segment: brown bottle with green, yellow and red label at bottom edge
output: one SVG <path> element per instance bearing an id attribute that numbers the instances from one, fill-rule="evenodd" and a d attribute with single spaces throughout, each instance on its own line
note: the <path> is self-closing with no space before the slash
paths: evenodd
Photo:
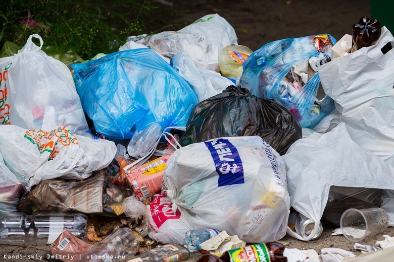
<path id="1" fill-rule="evenodd" d="M 204 254 L 197 262 L 287 262 L 283 251 L 282 244 L 268 242 L 231 249 L 220 257 Z"/>

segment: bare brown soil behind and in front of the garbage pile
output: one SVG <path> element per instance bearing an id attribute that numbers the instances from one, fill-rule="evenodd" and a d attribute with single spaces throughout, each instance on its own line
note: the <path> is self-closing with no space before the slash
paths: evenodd
<path id="1" fill-rule="evenodd" d="M 302 37 L 312 34 L 330 33 L 337 40 L 344 34 L 352 33 L 352 26 L 362 16 L 371 18 L 368 0 L 157 0 L 163 10 L 169 6 L 178 10 L 190 10 L 182 17 L 167 18 L 165 23 L 190 24 L 207 14 L 219 14 L 235 29 L 238 44 L 246 45 L 257 50 L 271 41 L 288 37 Z M 170 29 L 169 29 L 170 30 Z M 331 236 L 333 228 L 325 228 L 318 240 L 304 242 L 285 236 L 280 241 L 288 248 L 315 249 L 319 254 L 322 248 L 337 247 L 355 254 L 354 243 L 343 236 Z M 383 234 L 394 236 L 394 228 L 389 227 L 385 232 L 371 236 L 362 244 L 374 245 L 377 240 L 383 240 Z M 17 245 L 1 245 L 0 261 L 39 261 L 44 260 L 49 251 L 47 245 L 34 243 Z M 32 259 L 8 259 L 10 255 L 31 255 Z M 42 257 L 40 257 L 42 256 Z M 194 262 L 200 256 L 194 253 L 189 258 Z"/>

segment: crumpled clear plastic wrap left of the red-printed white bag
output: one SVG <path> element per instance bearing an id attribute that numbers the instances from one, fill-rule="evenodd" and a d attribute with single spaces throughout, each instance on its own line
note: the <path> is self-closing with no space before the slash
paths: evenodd
<path id="1" fill-rule="evenodd" d="M 134 219 L 135 221 L 140 221 L 138 226 L 135 227 L 135 231 L 140 233 L 142 236 L 146 236 L 148 233 L 148 221 L 150 217 L 149 209 L 140 202 L 134 195 L 126 198 L 123 203 L 124 214 Z"/>

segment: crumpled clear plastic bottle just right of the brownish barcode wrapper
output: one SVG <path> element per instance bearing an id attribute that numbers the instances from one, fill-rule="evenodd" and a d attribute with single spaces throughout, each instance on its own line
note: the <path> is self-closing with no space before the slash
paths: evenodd
<path id="1" fill-rule="evenodd" d="M 81 254 L 82 262 L 128 261 L 138 251 L 139 240 L 129 228 L 120 228 L 87 252 Z"/>

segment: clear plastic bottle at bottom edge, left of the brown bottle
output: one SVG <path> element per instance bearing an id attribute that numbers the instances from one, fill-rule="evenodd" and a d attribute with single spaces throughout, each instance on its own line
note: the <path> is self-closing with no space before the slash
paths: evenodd
<path id="1" fill-rule="evenodd" d="M 190 251 L 179 244 L 167 244 L 144 251 L 128 262 L 176 262 L 190 256 Z"/>

